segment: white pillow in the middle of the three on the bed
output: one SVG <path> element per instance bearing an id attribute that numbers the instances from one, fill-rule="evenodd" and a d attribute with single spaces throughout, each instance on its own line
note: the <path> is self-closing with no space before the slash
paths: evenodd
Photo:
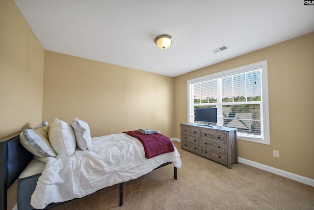
<path id="1" fill-rule="evenodd" d="M 76 149 L 76 141 L 70 124 L 54 119 L 48 130 L 49 142 L 57 154 L 70 156 Z"/>

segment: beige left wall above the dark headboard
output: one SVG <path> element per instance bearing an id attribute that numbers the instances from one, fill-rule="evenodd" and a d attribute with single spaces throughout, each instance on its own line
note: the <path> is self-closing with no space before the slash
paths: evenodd
<path id="1" fill-rule="evenodd" d="M 13 0 L 0 0 L 0 140 L 42 120 L 44 50 Z M 17 181 L 8 189 L 16 204 Z"/>

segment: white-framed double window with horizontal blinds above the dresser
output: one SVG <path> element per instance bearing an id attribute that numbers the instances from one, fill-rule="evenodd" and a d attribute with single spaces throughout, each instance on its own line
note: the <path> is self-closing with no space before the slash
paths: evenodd
<path id="1" fill-rule="evenodd" d="M 217 108 L 217 126 L 238 129 L 238 138 L 269 145 L 267 61 L 187 81 L 188 122 L 195 108 Z"/>

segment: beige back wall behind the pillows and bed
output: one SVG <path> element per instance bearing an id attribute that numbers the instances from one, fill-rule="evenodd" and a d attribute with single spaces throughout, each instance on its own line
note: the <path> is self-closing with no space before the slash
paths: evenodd
<path id="1" fill-rule="evenodd" d="M 174 136 L 174 78 L 45 51 L 43 119 L 86 121 L 91 135 L 151 128 Z"/>

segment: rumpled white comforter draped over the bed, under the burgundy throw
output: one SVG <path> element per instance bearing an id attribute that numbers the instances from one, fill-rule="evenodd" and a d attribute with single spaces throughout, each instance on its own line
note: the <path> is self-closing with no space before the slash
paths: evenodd
<path id="1" fill-rule="evenodd" d="M 35 209 L 136 179 L 168 161 L 181 168 L 176 148 L 147 159 L 142 143 L 125 133 L 92 138 L 92 151 L 76 150 L 70 157 L 57 155 L 39 160 L 46 162 L 46 167 L 31 196 Z"/>

